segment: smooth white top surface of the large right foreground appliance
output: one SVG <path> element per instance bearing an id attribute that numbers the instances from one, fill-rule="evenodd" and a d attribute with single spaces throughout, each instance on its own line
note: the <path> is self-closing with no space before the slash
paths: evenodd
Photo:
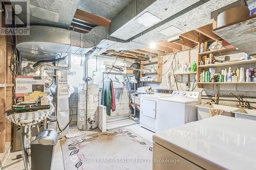
<path id="1" fill-rule="evenodd" d="M 165 148 L 177 145 L 223 168 L 256 169 L 255 120 L 215 116 L 156 133 L 154 138 L 166 141 Z"/>

